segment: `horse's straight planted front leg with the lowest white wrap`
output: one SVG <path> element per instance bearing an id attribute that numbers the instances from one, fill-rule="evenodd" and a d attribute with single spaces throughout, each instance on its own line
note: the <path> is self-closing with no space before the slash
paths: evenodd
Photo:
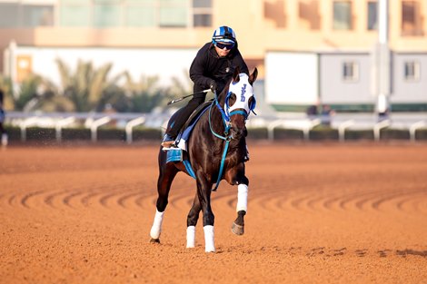
<path id="1" fill-rule="evenodd" d="M 197 175 L 197 195 L 204 213 L 204 251 L 214 252 L 214 212 L 211 208 L 212 184 Z"/>

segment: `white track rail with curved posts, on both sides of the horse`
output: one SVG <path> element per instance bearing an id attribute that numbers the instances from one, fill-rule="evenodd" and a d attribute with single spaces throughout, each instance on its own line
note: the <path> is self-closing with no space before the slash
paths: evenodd
<path id="1" fill-rule="evenodd" d="M 144 124 L 147 127 L 162 129 L 171 113 L 6 113 L 5 123 L 17 126 L 21 130 L 21 140 L 27 140 L 27 130 L 30 126 L 54 128 L 57 142 L 63 140 L 63 129 L 68 125 L 82 125 L 90 129 L 92 141 L 97 141 L 99 127 L 113 121 L 118 128 L 124 128 L 126 142 L 132 143 L 134 127 Z M 416 133 L 427 125 L 427 113 L 393 113 L 390 120 L 377 122 L 374 113 L 336 113 L 332 117 L 331 127 L 338 131 L 340 142 L 346 140 L 345 134 L 351 127 L 354 130 L 372 130 L 375 141 L 381 140 L 381 132 L 385 127 L 399 127 L 410 132 L 409 139 L 416 141 Z M 246 124 L 251 127 L 265 127 L 267 139 L 275 139 L 277 128 L 300 130 L 303 139 L 310 140 L 310 132 L 314 126 L 321 123 L 319 118 L 310 120 L 305 113 L 264 113 L 251 117 Z"/>

